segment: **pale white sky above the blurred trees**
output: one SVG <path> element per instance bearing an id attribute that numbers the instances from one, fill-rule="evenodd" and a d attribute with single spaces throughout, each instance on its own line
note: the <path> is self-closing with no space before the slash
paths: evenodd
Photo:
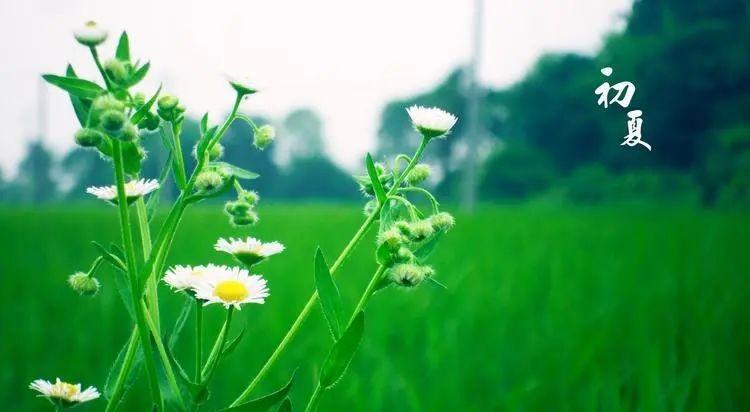
<path id="1" fill-rule="evenodd" d="M 15 170 L 38 134 L 39 75 L 71 62 L 95 76 L 88 51 L 70 31 L 85 20 L 119 32 L 131 53 L 150 60 L 139 90 L 163 81 L 188 112 L 229 109 L 225 74 L 262 89 L 243 105 L 281 117 L 299 106 L 325 122 L 327 150 L 352 167 L 374 146 L 380 111 L 391 99 L 425 91 L 469 59 L 473 0 L 2 0 L 0 4 L 0 167 Z M 485 0 L 481 80 L 519 80 L 548 51 L 594 52 L 618 30 L 631 0 Z M 49 135 L 57 153 L 73 145 L 76 121 L 66 95 L 49 89 Z M 283 136 L 279 136 L 283 139 Z"/>

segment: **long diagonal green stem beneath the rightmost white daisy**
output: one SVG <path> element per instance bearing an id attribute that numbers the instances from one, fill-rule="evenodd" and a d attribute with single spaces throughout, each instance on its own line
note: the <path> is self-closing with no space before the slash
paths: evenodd
<path id="1" fill-rule="evenodd" d="M 391 190 L 388 191 L 387 196 L 393 195 L 396 190 L 398 190 L 398 187 L 401 185 L 401 183 L 406 178 L 406 175 L 409 173 L 409 171 L 417 164 L 419 161 L 419 158 L 422 157 L 422 153 L 424 153 L 425 148 L 427 147 L 427 143 L 429 143 L 428 139 L 422 139 L 422 142 L 419 144 L 419 147 L 417 148 L 416 153 L 414 153 L 414 156 L 411 158 L 411 161 L 409 162 L 409 165 L 406 166 L 406 169 L 396 178 L 393 187 Z M 335 276 L 336 271 L 339 267 L 344 263 L 346 258 L 349 256 L 349 254 L 354 250 L 354 247 L 359 243 L 359 241 L 364 237 L 365 233 L 370 229 L 372 224 L 380 217 L 380 212 L 383 210 L 384 204 L 378 204 L 378 207 L 375 209 L 375 211 L 367 217 L 367 219 L 362 223 L 362 226 L 357 230 L 357 233 L 354 234 L 354 237 L 349 241 L 349 243 L 346 245 L 343 251 L 341 251 L 341 254 L 339 254 L 336 261 L 333 263 L 333 265 L 330 268 L 331 276 Z M 250 381 L 250 384 L 245 388 L 244 391 L 237 397 L 237 399 L 232 402 L 230 407 L 234 407 L 242 403 L 244 400 L 246 400 L 250 393 L 260 384 L 261 380 L 266 376 L 268 371 L 271 369 L 271 366 L 273 366 L 274 363 L 276 363 L 276 360 L 279 358 L 282 352 L 286 349 L 286 347 L 289 345 L 289 342 L 294 338 L 294 336 L 299 331 L 300 327 L 304 323 L 305 319 L 307 319 L 307 316 L 312 311 L 312 308 L 315 306 L 315 302 L 318 300 L 318 293 L 314 292 L 310 299 L 308 299 L 305 306 L 302 308 L 302 311 L 297 315 L 297 319 L 294 320 L 294 323 L 292 323 L 292 326 L 289 328 L 289 330 L 286 332 L 286 335 L 284 335 L 284 338 L 282 338 L 279 345 L 274 349 L 273 353 L 271 353 L 271 356 L 268 357 L 268 360 L 266 360 L 266 363 L 263 364 L 260 371 L 258 371 L 258 374 L 255 375 L 253 380 Z"/>

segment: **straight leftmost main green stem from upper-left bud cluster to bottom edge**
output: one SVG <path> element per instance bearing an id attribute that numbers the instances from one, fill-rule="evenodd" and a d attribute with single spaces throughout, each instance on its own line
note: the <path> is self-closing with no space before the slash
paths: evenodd
<path id="1" fill-rule="evenodd" d="M 136 327 L 138 334 L 141 339 L 141 346 L 143 347 L 143 355 L 146 363 L 146 372 L 148 375 L 149 388 L 151 390 L 151 397 L 160 411 L 164 410 L 164 403 L 162 402 L 161 393 L 159 392 L 159 382 L 156 376 L 156 365 L 154 364 L 153 352 L 151 348 L 151 341 L 148 333 L 148 326 L 144 318 L 141 307 L 141 298 L 136 293 L 138 291 L 138 268 L 135 259 L 135 248 L 133 246 L 133 236 L 130 229 L 130 216 L 128 214 L 128 202 L 125 196 L 125 170 L 122 161 L 122 148 L 120 147 L 120 141 L 117 139 L 112 140 L 114 167 L 115 167 L 115 181 L 117 183 L 117 209 L 120 212 L 120 229 L 122 231 L 122 246 L 125 249 L 125 257 L 128 267 L 128 274 L 130 275 L 130 289 L 133 298 L 133 309 L 135 312 Z"/>

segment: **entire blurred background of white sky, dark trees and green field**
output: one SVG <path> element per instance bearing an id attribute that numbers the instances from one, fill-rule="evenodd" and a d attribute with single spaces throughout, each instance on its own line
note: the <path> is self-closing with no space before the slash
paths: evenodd
<path id="1" fill-rule="evenodd" d="M 117 239 L 115 210 L 85 194 L 112 172 L 74 147 L 67 97 L 39 80 L 67 62 L 94 78 L 69 33 L 95 18 L 112 37 L 127 29 L 133 53 L 152 62 L 144 92 L 162 82 L 187 105 L 186 159 L 202 113 L 229 109 L 225 73 L 257 79 L 263 92 L 243 111 L 278 130 L 263 152 L 243 122 L 223 141 L 227 161 L 261 174 L 261 222 L 235 229 L 221 202 L 202 204 L 168 259 L 228 264 L 211 247 L 227 235 L 288 248 L 259 267 L 272 297 L 241 312 L 247 336 L 210 407 L 239 393 L 301 309 L 316 246 L 333 257 L 359 226 L 351 175 L 364 152 L 413 150 L 404 108 L 422 104 L 461 119 L 426 160 L 458 221 L 433 259 L 448 290 L 378 294 L 322 410 L 750 410 L 747 1 L 0 7 L 0 409 L 47 410 L 26 389 L 38 377 L 103 385 L 130 330 L 111 273 L 93 299 L 65 284 L 96 256 L 91 240 Z M 605 80 L 635 84 L 630 108 L 643 111 L 652 151 L 620 145 L 627 110 L 597 105 Z M 152 137 L 147 177 L 166 158 Z M 349 308 L 374 267 L 368 238 L 338 278 Z M 180 297 L 161 292 L 162 321 L 173 322 Z M 208 311 L 212 327 L 221 313 Z M 299 367 L 301 408 L 329 345 L 316 311 L 258 394 Z M 186 336 L 177 347 L 186 365 L 190 346 Z M 145 410 L 142 382 L 130 395 L 123 410 Z"/>

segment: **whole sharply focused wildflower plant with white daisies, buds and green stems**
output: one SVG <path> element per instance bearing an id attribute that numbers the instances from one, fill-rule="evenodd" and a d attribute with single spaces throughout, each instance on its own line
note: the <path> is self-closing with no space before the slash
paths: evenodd
<path id="1" fill-rule="evenodd" d="M 89 49 L 101 76 L 100 83 L 79 78 L 70 65 L 64 75 L 43 75 L 47 82 L 70 97 L 81 126 L 74 135 L 75 142 L 98 152 L 111 163 L 113 184 L 92 187 L 87 192 L 116 212 L 121 231 L 120 242 L 108 247 L 93 242 L 97 258 L 87 272 L 70 275 L 68 284 L 82 296 L 95 296 L 101 287 L 109 286 L 110 279 L 101 281 L 96 277 L 103 266 L 109 265 L 115 270 L 112 285 L 118 290 L 133 322 L 132 333 L 102 386 L 105 411 L 114 411 L 120 406 L 141 366 L 146 371 L 151 395 L 151 404 L 144 405 L 142 410 L 196 411 L 204 407 L 210 397 L 210 383 L 221 359 L 242 344 L 242 332 L 230 338 L 234 312 L 243 308 L 259 310 L 257 305 L 271 298 L 269 282 L 254 274 L 255 268 L 282 253 L 284 245 L 250 236 L 221 238 L 214 249 L 217 254 L 231 255 L 235 266 L 206 263 L 167 268 L 166 260 L 185 211 L 203 200 L 234 190 L 236 198 L 224 205 L 229 223 L 249 227 L 258 222 L 255 209 L 260 197 L 257 192 L 246 189 L 242 182 L 259 176 L 221 161 L 224 154 L 221 140 L 236 120 L 250 124 L 254 134 L 252 145 L 257 150 L 271 144 L 276 132 L 272 126 L 258 126 L 239 113 L 240 104 L 257 90 L 250 82 L 232 79 L 229 81 L 235 91 L 232 110 L 220 124 L 212 124 L 208 114 L 201 118 L 200 138 L 192 148 L 196 165 L 188 170 L 180 139 L 185 106 L 176 96 L 162 93 L 161 86 L 148 95 L 134 90 L 148 74 L 150 63 L 141 63 L 131 56 L 127 33 L 119 37 L 114 56 L 102 62 L 98 47 L 107 36 L 107 30 L 94 22 L 74 32 L 75 39 Z M 331 332 L 332 343 L 307 404 L 308 411 L 315 410 L 323 393 L 344 375 L 362 339 L 367 303 L 378 291 L 391 285 L 416 288 L 423 283 L 443 287 L 435 279 L 435 270 L 428 266 L 427 259 L 453 226 L 454 219 L 441 212 L 435 197 L 421 186 L 428 180 L 430 168 L 421 164 L 420 159 L 431 142 L 449 134 L 457 119 L 443 110 L 419 106 L 408 108 L 407 114 L 421 136 L 416 152 L 411 156 L 400 154 L 390 165 L 375 163 L 369 154 L 366 156 L 366 173 L 355 177 L 367 198 L 364 222 L 331 265 L 320 249 L 316 251 L 312 265 L 316 290 L 261 369 L 221 411 L 260 411 L 277 405 L 281 405 L 279 410 L 291 410 L 288 395 L 293 386 L 293 373 L 289 382 L 277 391 L 255 399 L 250 397 L 318 304 Z M 159 136 L 169 155 L 159 176 L 141 176 L 146 157 L 142 141 L 156 139 L 154 135 Z M 174 184 L 179 195 L 169 207 L 166 219 L 156 227 L 152 217 L 159 204 L 159 191 L 167 184 Z M 413 203 L 416 196 L 427 199 L 428 210 Z M 373 228 L 378 232 L 373 247 L 377 269 L 356 307 L 347 312 L 334 276 Z M 162 282 L 184 299 L 182 311 L 169 325 L 159 307 L 158 286 Z M 224 324 L 213 334 L 210 350 L 204 347 L 204 339 L 210 335 L 203 328 L 205 306 L 225 311 Z M 194 358 L 190 361 L 193 369 L 189 373 L 182 367 L 185 360 L 175 357 L 173 347 L 191 317 L 195 347 Z M 100 397 L 95 387 L 81 391 L 80 385 L 59 379 L 54 384 L 39 379 L 32 382 L 30 388 L 49 399 L 57 409 Z"/>

